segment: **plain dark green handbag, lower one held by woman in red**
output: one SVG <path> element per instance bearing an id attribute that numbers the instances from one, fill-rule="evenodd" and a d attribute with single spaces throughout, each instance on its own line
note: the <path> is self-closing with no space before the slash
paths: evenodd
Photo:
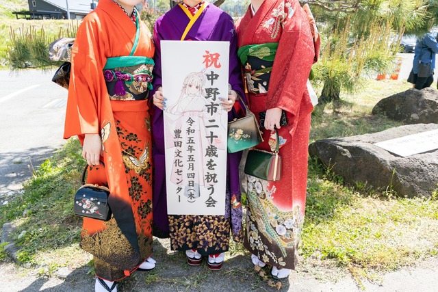
<path id="1" fill-rule="evenodd" d="M 275 152 L 251 149 L 246 157 L 246 174 L 265 181 L 279 181 L 281 178 L 281 157 L 279 156 L 279 132 L 276 133 Z"/>

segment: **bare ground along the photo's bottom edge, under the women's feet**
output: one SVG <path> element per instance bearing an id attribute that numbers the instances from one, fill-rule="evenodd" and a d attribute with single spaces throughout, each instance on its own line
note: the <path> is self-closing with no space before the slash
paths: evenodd
<path id="1" fill-rule="evenodd" d="M 242 252 L 228 255 L 220 271 L 210 271 L 205 259 L 201 266 L 191 267 L 182 253 L 169 250 L 168 240 L 154 239 L 153 257 L 157 260 L 153 271 L 136 271 L 118 284 L 118 291 L 277 291 L 254 271 L 249 254 Z M 0 291 L 94 291 L 94 278 L 89 271 L 90 266 L 86 265 L 64 271 L 64 276 L 55 272 L 58 276 L 46 278 L 38 276 L 38 269 L 5 261 L 0 263 Z M 270 273 L 268 268 L 265 271 Z M 374 278 L 373 282 L 361 279 L 358 284 L 346 269 L 327 267 L 315 259 L 299 265 L 281 282 L 279 291 L 437 291 L 438 258 L 428 258 Z"/>

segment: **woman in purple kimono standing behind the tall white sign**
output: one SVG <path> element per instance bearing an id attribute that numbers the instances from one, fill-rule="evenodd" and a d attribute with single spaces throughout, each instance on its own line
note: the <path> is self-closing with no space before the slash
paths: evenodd
<path id="1" fill-rule="evenodd" d="M 230 42 L 229 96 L 222 101 L 229 120 L 239 118 L 235 101 L 244 108 L 246 99 L 242 90 L 240 63 L 237 59 L 237 39 L 233 19 L 212 4 L 198 0 L 183 0 L 155 23 L 155 77 L 153 103 L 153 159 L 164 161 L 164 127 L 162 109 L 166 110 L 162 95 L 161 40 L 209 40 Z M 176 52 L 181 54 L 189 52 Z M 242 101 L 244 99 L 244 101 Z M 239 103 L 236 103 L 238 107 Z M 153 210 L 154 235 L 170 237 L 172 250 L 185 251 L 189 265 L 200 265 L 202 256 L 208 256 L 210 269 L 220 269 L 224 252 L 229 249 L 230 231 L 233 240 L 241 241 L 242 204 L 240 204 L 239 163 L 242 153 L 227 155 L 227 194 L 224 216 L 168 215 L 166 206 L 166 172 L 164 163 L 155 163 Z M 231 230 L 230 230 L 231 229 Z"/>

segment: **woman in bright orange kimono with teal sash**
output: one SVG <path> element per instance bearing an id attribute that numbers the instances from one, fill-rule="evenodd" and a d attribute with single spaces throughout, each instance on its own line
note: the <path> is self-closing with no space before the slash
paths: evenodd
<path id="1" fill-rule="evenodd" d="M 94 256 L 95 291 L 116 291 L 115 281 L 155 267 L 147 100 L 154 47 L 134 9 L 139 2 L 99 1 L 72 48 L 64 138 L 79 137 L 87 183 L 110 189 L 113 213 L 107 222 L 83 218 L 81 248 Z"/>

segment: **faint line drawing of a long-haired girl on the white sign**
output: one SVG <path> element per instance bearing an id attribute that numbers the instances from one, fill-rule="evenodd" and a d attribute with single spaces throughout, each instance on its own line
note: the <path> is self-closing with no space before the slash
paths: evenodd
<path id="1" fill-rule="evenodd" d="M 218 101 L 208 98 L 206 82 L 204 70 L 188 74 L 178 101 L 166 109 L 166 128 L 173 129 L 168 132 L 172 135 L 170 145 L 175 147 L 170 181 L 181 187 L 179 194 L 183 194 L 188 202 L 201 196 L 200 187 L 216 183 L 214 170 L 207 163 L 210 160 L 207 150 L 212 146 L 223 150 L 223 146 L 219 146 L 220 136 L 207 137 L 211 131 L 207 131 L 207 127 L 212 123 L 216 127 L 220 122 L 216 117 L 221 114 L 222 107 Z"/>

